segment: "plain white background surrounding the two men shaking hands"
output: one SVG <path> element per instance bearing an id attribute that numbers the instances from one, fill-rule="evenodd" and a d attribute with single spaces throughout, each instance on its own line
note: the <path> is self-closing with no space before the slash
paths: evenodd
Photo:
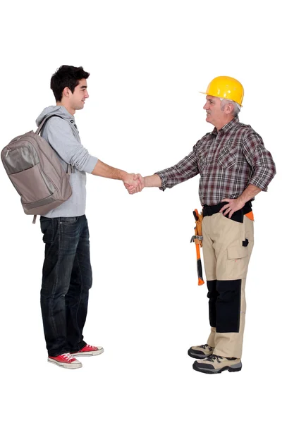
<path id="1" fill-rule="evenodd" d="M 62 64 L 90 72 L 75 114 L 91 154 L 151 175 L 212 130 L 202 109 L 212 78 L 245 87 L 240 121 L 262 135 L 278 174 L 257 196 L 247 278 L 243 371 L 192 370 L 209 333 L 207 286 L 190 244 L 199 176 L 130 196 L 87 177 L 94 276 L 85 341 L 104 354 L 75 371 L 47 363 L 39 306 L 44 245 L 3 166 L 2 422 L 269 422 L 281 398 L 281 19 L 278 1 L 9 1 L 1 6 L 1 148 L 54 104 Z M 279 385 L 276 385 L 279 384 Z M 6 416 L 6 417 L 4 417 Z"/>

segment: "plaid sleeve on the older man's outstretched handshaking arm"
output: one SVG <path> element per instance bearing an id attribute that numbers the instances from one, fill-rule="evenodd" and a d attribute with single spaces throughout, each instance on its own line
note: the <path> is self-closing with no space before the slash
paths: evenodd
<path id="1" fill-rule="evenodd" d="M 163 191 L 166 188 L 173 188 L 174 185 L 178 183 L 185 182 L 185 180 L 196 176 L 198 173 L 199 169 L 197 166 L 195 147 L 188 156 L 180 160 L 175 166 L 155 172 L 155 174 L 159 175 L 161 178 L 161 187 L 159 189 Z"/>

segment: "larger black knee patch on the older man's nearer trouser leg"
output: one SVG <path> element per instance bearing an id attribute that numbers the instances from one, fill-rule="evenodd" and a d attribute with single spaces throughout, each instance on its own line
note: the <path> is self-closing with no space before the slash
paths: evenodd
<path id="1" fill-rule="evenodd" d="M 239 332 L 241 279 L 217 281 L 216 332 Z"/>

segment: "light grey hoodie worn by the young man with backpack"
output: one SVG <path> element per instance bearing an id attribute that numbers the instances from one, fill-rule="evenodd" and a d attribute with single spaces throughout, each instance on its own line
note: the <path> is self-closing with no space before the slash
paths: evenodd
<path id="1" fill-rule="evenodd" d="M 70 183 L 73 190 L 71 197 L 51 210 L 47 217 L 73 217 L 85 214 L 86 173 L 91 173 L 97 164 L 97 157 L 91 156 L 82 146 L 75 118 L 63 106 L 46 107 L 36 120 L 37 126 L 46 116 L 54 116 L 47 121 L 42 130 L 42 137 L 49 142 L 58 155 L 61 165 L 67 170 L 67 164 L 73 166 Z"/>

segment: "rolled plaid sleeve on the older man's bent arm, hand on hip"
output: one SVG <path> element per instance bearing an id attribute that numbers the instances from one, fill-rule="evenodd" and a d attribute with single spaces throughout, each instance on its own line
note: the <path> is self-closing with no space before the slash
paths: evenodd
<path id="1" fill-rule="evenodd" d="M 271 153 L 264 147 L 262 137 L 257 133 L 247 133 L 243 142 L 243 153 L 252 167 L 249 183 L 267 191 L 267 187 L 276 174 L 276 166 Z"/>

